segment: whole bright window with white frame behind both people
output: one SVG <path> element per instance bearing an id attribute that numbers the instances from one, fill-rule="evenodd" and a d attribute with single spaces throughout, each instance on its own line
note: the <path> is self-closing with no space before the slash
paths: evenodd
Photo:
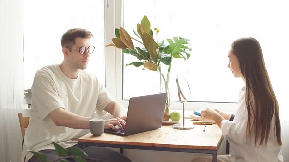
<path id="1" fill-rule="evenodd" d="M 250 36 L 261 44 L 282 116 L 289 107 L 285 95 L 289 80 L 283 77 L 289 60 L 286 6 L 282 0 L 146 0 L 142 4 L 135 0 L 24 1 L 25 88 L 31 87 L 37 69 L 61 63 L 61 35 L 80 27 L 95 37 L 92 44 L 96 50 L 87 70 L 105 81 L 108 91 L 120 103 L 127 106 L 130 97 L 158 93 L 157 72 L 124 67 L 136 58 L 122 54 L 120 49 L 104 48 L 111 43 L 115 28 L 123 26 L 133 36 L 136 24 L 146 15 L 151 27 L 160 29 L 159 40 L 174 36 L 190 39 L 191 58 L 188 61 L 174 58 L 172 65 L 172 75 L 182 74 L 192 89 L 188 109 L 209 106 L 234 111 L 243 83 L 227 68 L 227 53 L 232 41 Z M 173 80 L 170 80 L 171 100 L 177 101 Z M 171 106 L 181 108 L 179 102 L 172 102 Z"/>

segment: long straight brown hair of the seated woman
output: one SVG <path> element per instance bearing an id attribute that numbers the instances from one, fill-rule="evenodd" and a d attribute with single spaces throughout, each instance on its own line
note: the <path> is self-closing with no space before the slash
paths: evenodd
<path id="1" fill-rule="evenodd" d="M 247 134 L 255 134 L 255 146 L 267 145 L 273 116 L 274 132 L 278 145 L 281 142 L 279 105 L 265 67 L 262 49 L 254 38 L 240 38 L 232 43 L 232 52 L 237 56 L 240 70 L 246 81 L 246 105 L 248 109 Z M 251 132 L 252 130 L 253 132 Z"/>

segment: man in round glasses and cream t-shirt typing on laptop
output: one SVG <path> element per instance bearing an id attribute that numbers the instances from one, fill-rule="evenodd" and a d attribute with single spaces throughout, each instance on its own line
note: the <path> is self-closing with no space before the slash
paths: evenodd
<path id="1" fill-rule="evenodd" d="M 46 155 L 47 162 L 58 158 L 53 142 L 70 152 L 77 147 L 79 137 L 90 129 L 89 120 L 96 111 L 108 112 L 113 119 L 105 121 L 105 129 L 125 127 L 126 113 L 97 77 L 86 69 L 94 46 L 93 35 L 85 29 L 70 29 L 61 38 L 64 60 L 61 64 L 46 66 L 35 74 L 32 85 L 30 123 L 27 128 L 22 159 L 39 160 L 27 150 Z M 106 148 L 85 147 L 88 162 L 130 162 L 121 154 Z"/>

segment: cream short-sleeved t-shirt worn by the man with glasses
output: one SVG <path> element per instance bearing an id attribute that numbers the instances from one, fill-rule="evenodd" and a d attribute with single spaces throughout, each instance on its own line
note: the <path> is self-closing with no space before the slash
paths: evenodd
<path id="1" fill-rule="evenodd" d="M 22 162 L 25 155 L 26 160 L 33 156 L 27 150 L 55 149 L 52 141 L 68 148 L 77 144 L 79 137 L 89 133 L 88 129 L 56 126 L 49 117 L 50 112 L 63 107 L 65 111 L 93 117 L 95 111 L 102 115 L 112 101 L 115 100 L 97 77 L 84 70 L 80 70 L 77 79 L 65 76 L 58 64 L 38 70 L 32 85 L 30 123 L 24 138 Z"/>

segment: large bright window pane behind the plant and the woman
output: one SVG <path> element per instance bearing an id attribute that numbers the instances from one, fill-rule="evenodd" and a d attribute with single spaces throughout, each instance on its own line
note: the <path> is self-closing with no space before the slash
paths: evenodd
<path id="1" fill-rule="evenodd" d="M 244 83 L 241 79 L 234 78 L 227 67 L 227 54 L 232 41 L 241 37 L 254 37 L 262 46 L 265 63 L 278 97 L 282 90 L 277 83 L 280 76 L 276 73 L 276 55 L 288 51 L 285 49 L 285 42 L 288 42 L 289 36 L 289 24 L 284 21 L 287 20 L 289 11 L 282 3 L 285 2 L 146 0 L 140 5 L 135 0 L 124 0 L 123 24 L 129 34 L 137 38 L 133 29 L 136 30 L 136 24 L 146 15 L 151 28 L 157 27 L 160 30 L 158 41 L 175 36 L 190 39 L 193 49 L 191 58 L 187 61 L 173 58 L 171 75 L 182 74 L 187 79 L 192 90 L 191 101 L 237 102 L 239 90 Z M 134 44 L 142 47 L 136 41 Z M 123 66 L 134 61 L 138 60 L 124 54 Z M 124 99 L 159 92 L 157 72 L 141 69 L 142 67 L 123 67 Z M 171 100 L 177 101 L 175 77 L 170 79 L 169 84 Z M 278 99 L 282 100 L 280 95 Z"/>

